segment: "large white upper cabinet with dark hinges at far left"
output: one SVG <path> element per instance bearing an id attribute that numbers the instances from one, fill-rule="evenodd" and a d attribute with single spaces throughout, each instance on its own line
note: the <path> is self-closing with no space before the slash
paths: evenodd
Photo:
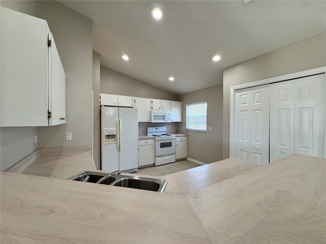
<path id="1" fill-rule="evenodd" d="M 47 22 L 2 7 L 1 126 L 65 121 L 60 119 L 65 116 L 62 79 L 64 70 Z"/>

